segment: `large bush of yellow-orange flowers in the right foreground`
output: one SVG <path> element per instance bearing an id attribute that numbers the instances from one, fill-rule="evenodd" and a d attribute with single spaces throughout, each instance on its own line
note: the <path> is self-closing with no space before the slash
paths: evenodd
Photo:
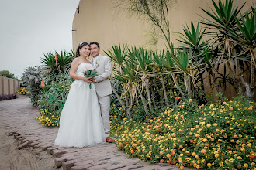
<path id="1" fill-rule="evenodd" d="M 111 133 L 116 146 L 147 162 L 197 169 L 255 169 L 256 104 L 236 97 L 223 104 L 199 106 L 182 100 L 157 117 L 121 120 L 112 108 Z"/>

